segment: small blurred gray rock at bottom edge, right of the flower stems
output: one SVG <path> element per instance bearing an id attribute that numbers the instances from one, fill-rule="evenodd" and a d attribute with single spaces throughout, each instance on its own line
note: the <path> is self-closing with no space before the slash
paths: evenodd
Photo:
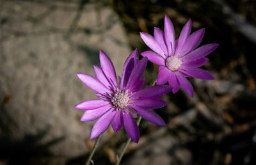
<path id="1" fill-rule="evenodd" d="M 162 129 L 164 130 L 164 129 Z M 154 132 L 153 134 L 155 134 Z M 161 134 L 160 131 L 157 133 Z M 156 134 L 157 135 L 157 134 Z M 145 146 L 136 150 L 131 159 L 122 164 L 190 164 L 191 152 L 182 147 L 180 142 L 170 135 L 161 136 L 149 141 Z"/>

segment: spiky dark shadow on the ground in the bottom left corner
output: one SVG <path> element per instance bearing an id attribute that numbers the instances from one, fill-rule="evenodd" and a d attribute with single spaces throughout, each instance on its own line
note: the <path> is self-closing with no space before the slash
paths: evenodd
<path id="1" fill-rule="evenodd" d="M 31 164 L 31 161 L 36 158 L 54 157 L 54 153 L 51 153 L 49 148 L 64 138 L 57 138 L 42 145 L 40 141 L 46 134 L 47 129 L 36 135 L 26 135 L 20 140 L 0 138 L 0 159 L 3 159 L 7 164 L 14 165 Z M 40 163 L 38 162 L 38 164 Z"/>

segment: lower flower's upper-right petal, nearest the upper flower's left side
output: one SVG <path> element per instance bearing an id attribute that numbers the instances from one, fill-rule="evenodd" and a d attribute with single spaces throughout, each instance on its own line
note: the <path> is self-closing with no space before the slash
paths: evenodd
<path id="1" fill-rule="evenodd" d="M 147 61 L 148 58 L 142 58 L 139 62 L 138 65 L 134 67 L 132 70 L 131 76 L 129 77 L 128 83 L 127 83 L 127 88 L 131 88 L 131 86 L 140 79 L 142 76 L 143 72 L 145 71 L 145 68 L 147 67 Z"/>

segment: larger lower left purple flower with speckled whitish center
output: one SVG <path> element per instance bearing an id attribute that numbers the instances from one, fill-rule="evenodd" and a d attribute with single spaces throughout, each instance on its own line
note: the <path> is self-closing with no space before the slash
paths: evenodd
<path id="1" fill-rule="evenodd" d="M 90 139 L 97 138 L 112 125 L 116 132 L 124 125 L 125 131 L 138 143 L 140 132 L 134 118 L 139 114 L 148 122 L 164 126 L 163 119 L 149 109 L 157 109 L 166 105 L 160 97 L 170 92 L 167 85 L 156 85 L 143 88 L 144 79 L 141 78 L 146 66 L 147 58 L 138 59 L 138 51 L 133 51 L 124 64 L 122 77 L 116 77 L 111 59 L 100 51 L 100 65 L 94 66 L 96 77 L 77 73 L 77 77 L 89 88 L 97 92 L 99 99 L 86 100 L 77 104 L 77 109 L 86 110 L 81 118 L 82 122 L 97 120 L 92 128 Z"/>

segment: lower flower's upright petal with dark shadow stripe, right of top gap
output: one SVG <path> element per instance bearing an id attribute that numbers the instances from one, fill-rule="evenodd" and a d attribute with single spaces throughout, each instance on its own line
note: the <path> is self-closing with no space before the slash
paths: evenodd
<path id="1" fill-rule="evenodd" d="M 135 49 L 129 57 L 126 59 L 124 63 L 124 68 L 122 72 L 122 79 L 120 81 L 120 88 L 122 89 L 124 86 L 126 86 L 127 81 L 129 80 L 129 77 L 131 75 L 132 69 L 134 68 L 134 65 L 136 65 L 139 61 L 138 57 L 138 50 Z"/>

